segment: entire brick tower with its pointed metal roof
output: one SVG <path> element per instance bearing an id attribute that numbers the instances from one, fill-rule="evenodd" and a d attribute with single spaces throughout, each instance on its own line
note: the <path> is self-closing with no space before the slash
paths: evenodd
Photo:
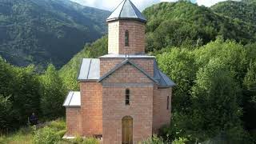
<path id="1" fill-rule="evenodd" d="M 146 18 L 130 0 L 122 1 L 106 22 L 108 54 L 145 54 Z"/>

